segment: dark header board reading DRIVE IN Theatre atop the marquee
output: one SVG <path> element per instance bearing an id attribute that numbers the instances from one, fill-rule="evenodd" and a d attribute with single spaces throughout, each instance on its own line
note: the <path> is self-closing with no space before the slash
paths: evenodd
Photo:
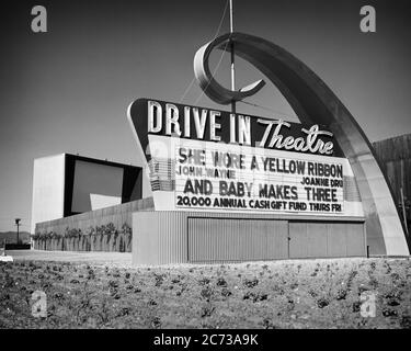
<path id="1" fill-rule="evenodd" d="M 148 135 L 254 146 L 324 156 L 342 156 L 332 133 L 319 125 L 301 125 L 226 111 L 138 99 L 129 107 L 142 148 Z"/>

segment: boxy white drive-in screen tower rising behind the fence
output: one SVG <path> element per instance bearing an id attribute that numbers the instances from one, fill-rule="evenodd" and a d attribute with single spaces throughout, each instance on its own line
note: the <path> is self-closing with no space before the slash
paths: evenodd
<path id="1" fill-rule="evenodd" d="M 142 197 L 140 167 L 60 154 L 34 160 L 32 233 L 38 223 Z"/>

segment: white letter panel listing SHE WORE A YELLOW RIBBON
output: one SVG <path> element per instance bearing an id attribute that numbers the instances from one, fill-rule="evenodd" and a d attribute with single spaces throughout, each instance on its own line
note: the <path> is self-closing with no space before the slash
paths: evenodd
<path id="1" fill-rule="evenodd" d="M 362 216 L 344 158 L 149 135 L 157 210 Z"/>

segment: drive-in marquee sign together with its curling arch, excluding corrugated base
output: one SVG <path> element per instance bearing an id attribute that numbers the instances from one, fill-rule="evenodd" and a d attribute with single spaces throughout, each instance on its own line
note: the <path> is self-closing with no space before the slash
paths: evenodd
<path id="1" fill-rule="evenodd" d="M 208 65 L 214 49 L 232 50 L 232 57 L 260 70 L 301 124 L 136 100 L 127 114 L 147 160 L 156 211 L 361 217 L 355 219 L 365 218 L 370 254 L 409 256 L 404 228 L 373 147 L 321 78 L 271 42 L 224 34 L 194 57 L 201 89 L 219 104 L 251 97 L 265 82 L 260 79 L 239 90 L 220 86 Z"/>

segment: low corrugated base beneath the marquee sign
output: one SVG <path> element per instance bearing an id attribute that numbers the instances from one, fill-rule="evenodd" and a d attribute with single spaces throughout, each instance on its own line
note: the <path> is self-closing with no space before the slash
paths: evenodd
<path id="1" fill-rule="evenodd" d="M 133 214 L 133 264 L 366 257 L 364 218 L 151 211 Z"/>

